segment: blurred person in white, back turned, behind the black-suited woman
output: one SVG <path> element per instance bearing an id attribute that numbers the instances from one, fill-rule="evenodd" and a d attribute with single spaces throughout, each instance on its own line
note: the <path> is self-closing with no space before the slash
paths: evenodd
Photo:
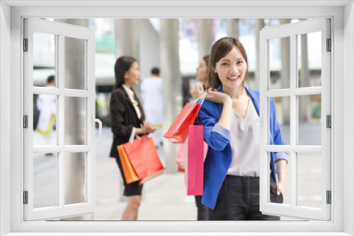
<path id="1" fill-rule="evenodd" d="M 140 85 L 145 120 L 152 122 L 158 129 L 149 134 L 154 139 L 156 148 L 162 145 L 162 123 L 164 122 L 164 96 L 160 69 L 152 68 L 152 76 L 144 78 Z"/>

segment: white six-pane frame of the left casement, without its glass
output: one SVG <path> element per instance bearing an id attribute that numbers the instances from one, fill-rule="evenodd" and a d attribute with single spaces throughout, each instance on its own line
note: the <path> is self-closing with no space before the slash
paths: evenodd
<path id="1" fill-rule="evenodd" d="M 93 213 L 96 206 L 96 146 L 95 133 L 95 99 L 96 99 L 96 78 L 95 78 L 95 32 L 90 28 L 78 25 L 69 25 L 49 20 L 25 18 L 24 38 L 28 39 L 28 52 L 23 52 L 24 59 L 24 114 L 28 120 L 33 120 L 33 95 L 47 94 L 57 96 L 57 143 L 55 146 L 33 146 L 33 122 L 28 122 L 28 129 L 23 130 L 24 136 L 24 191 L 28 191 L 28 203 L 24 204 L 25 220 L 49 220 L 57 218 L 69 218 Z M 46 88 L 33 86 L 33 32 L 41 32 L 56 37 L 55 46 L 55 67 L 57 86 Z M 64 41 L 65 37 L 79 39 L 84 43 L 84 87 L 83 89 L 68 89 L 64 85 Z M 84 98 L 85 110 L 85 144 L 65 145 L 65 98 Z M 69 122 L 69 121 L 67 121 Z M 56 206 L 35 208 L 33 201 L 33 153 L 55 153 L 57 158 L 57 179 L 56 179 Z M 65 153 L 85 153 L 85 200 L 83 203 L 65 204 L 64 184 L 64 161 Z M 64 217 L 63 217 L 64 216 Z"/>

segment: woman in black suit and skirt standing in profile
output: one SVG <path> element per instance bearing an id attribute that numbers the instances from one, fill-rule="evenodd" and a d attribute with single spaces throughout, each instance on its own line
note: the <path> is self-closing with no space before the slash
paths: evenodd
<path id="1" fill-rule="evenodd" d="M 132 57 L 120 57 L 115 61 L 115 88 L 110 97 L 110 116 L 112 120 L 113 144 L 110 157 L 115 158 L 124 183 L 127 206 L 122 220 L 137 220 L 142 201 L 142 185 L 139 181 L 127 184 L 118 155 L 117 146 L 127 143 L 135 135 L 154 133 L 156 126 L 144 122 L 144 111 L 132 85 L 139 83 L 139 65 Z M 144 157 L 142 157 L 144 158 Z"/>

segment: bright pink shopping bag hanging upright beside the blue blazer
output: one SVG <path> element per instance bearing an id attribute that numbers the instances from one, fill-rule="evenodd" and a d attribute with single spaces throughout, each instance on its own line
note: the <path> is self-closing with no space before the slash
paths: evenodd
<path id="1" fill-rule="evenodd" d="M 200 124 L 189 126 L 185 155 L 185 189 L 187 195 L 202 195 L 204 177 L 205 145 L 203 140 L 204 127 Z"/>

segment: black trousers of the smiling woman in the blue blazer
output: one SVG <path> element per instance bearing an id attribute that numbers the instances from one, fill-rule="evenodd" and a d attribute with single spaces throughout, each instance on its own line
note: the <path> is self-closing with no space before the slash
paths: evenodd
<path id="1" fill-rule="evenodd" d="M 282 203 L 282 194 L 270 178 L 270 201 Z M 259 211 L 259 177 L 227 175 L 217 197 L 215 209 L 207 208 L 207 220 L 280 220 Z"/>

